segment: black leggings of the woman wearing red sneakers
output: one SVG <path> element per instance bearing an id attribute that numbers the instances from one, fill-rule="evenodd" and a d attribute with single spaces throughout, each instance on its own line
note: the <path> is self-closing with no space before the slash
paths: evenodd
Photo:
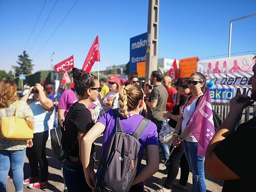
<path id="1" fill-rule="evenodd" d="M 33 147 L 27 147 L 26 155 L 28 157 L 29 166 L 31 168 L 31 176 L 37 177 L 38 163 L 41 171 L 41 182 L 48 181 L 48 161 L 45 154 L 46 142 L 48 139 L 49 132 L 44 131 L 42 133 L 34 133 Z"/>

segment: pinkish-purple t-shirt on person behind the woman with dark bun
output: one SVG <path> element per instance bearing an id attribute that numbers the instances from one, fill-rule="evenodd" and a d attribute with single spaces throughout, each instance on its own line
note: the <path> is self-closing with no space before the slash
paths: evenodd
<path id="1" fill-rule="evenodd" d="M 61 109 L 65 109 L 65 117 L 71 106 L 78 101 L 73 89 L 74 88 L 64 91 L 61 95 L 61 99 L 59 100 L 58 107 Z"/>

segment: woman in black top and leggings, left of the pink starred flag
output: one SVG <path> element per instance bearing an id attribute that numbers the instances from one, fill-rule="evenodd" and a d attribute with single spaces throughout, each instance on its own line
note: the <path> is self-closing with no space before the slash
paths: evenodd
<path id="1" fill-rule="evenodd" d="M 187 80 L 189 78 L 183 78 L 180 81 L 178 86 L 178 95 L 180 95 L 180 98 L 177 98 L 176 105 L 173 107 L 173 111 L 165 111 L 163 113 L 164 118 L 170 118 L 169 125 L 173 128 L 176 127 L 177 121 L 180 118 L 181 109 L 184 106 L 187 97 L 190 96 L 192 93 L 189 90 Z M 176 133 L 177 134 L 177 133 Z M 170 146 L 170 151 L 173 149 L 173 145 Z M 180 161 L 180 167 L 181 167 L 181 174 L 180 174 L 180 181 L 175 182 L 176 176 L 178 175 L 179 171 L 179 161 Z M 171 185 L 175 185 L 176 187 L 179 187 L 182 190 L 187 190 L 186 183 L 189 177 L 189 164 L 187 162 L 187 158 L 184 153 L 184 149 L 182 145 L 179 145 L 176 147 L 171 156 L 170 156 L 170 167 L 168 171 L 167 178 L 164 182 L 164 187 L 157 190 L 159 192 L 170 192 L 171 191 Z"/>

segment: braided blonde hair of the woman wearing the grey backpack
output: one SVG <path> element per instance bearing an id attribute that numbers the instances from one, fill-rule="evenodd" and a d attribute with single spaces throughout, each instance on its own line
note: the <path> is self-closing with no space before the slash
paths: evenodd
<path id="1" fill-rule="evenodd" d="M 128 112 L 135 110 L 142 99 L 144 99 L 144 92 L 140 86 L 131 84 L 123 88 L 118 98 L 121 116 L 128 118 Z"/>

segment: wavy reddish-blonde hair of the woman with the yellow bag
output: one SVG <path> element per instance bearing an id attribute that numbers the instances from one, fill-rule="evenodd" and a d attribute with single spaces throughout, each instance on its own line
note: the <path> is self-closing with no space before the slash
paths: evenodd
<path id="1" fill-rule="evenodd" d="M 13 81 L 0 81 L 0 107 L 6 108 L 13 104 L 17 99 L 17 85 Z"/>

